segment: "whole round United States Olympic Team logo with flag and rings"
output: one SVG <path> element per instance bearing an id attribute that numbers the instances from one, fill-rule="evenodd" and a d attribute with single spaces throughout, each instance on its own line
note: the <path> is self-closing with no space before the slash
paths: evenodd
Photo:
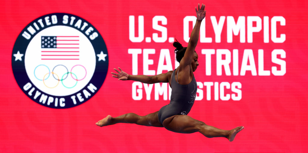
<path id="1" fill-rule="evenodd" d="M 85 19 L 66 13 L 41 16 L 19 34 L 12 69 L 21 90 L 51 108 L 70 108 L 94 96 L 108 69 L 106 44 Z"/>

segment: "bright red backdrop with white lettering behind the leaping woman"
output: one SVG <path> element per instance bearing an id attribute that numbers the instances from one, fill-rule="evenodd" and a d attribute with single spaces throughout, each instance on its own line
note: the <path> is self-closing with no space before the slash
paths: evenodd
<path id="1" fill-rule="evenodd" d="M 196 48 L 200 65 L 194 72 L 197 82 L 200 82 L 198 100 L 188 115 L 226 130 L 245 126 L 233 142 L 225 138 L 209 139 L 200 133 L 173 133 L 158 127 L 122 123 L 107 127 L 95 125 L 97 120 L 107 115 L 115 117 L 129 112 L 147 115 L 169 103 L 168 99 L 164 100 L 163 95 L 167 94 L 167 88 L 161 89 L 164 92 L 160 95 L 159 87 L 154 85 L 147 99 L 144 85 L 134 88 L 133 81 L 118 81 L 110 73 L 114 71 L 112 68 L 120 66 L 122 70 L 132 74 L 136 68 L 132 68 L 135 62 L 138 67 L 135 73 L 147 74 L 148 69 L 154 70 L 156 74 L 160 59 L 163 60 L 161 65 L 168 67 L 168 61 L 171 61 L 172 69 L 175 69 L 174 47 L 169 38 L 176 37 L 183 46 L 187 46 L 188 36 L 185 33 L 190 35 L 193 22 L 185 21 L 184 18 L 195 16 L 194 9 L 198 3 L 202 2 L 2 1 L 1 152 L 307 152 L 308 4 L 304 0 L 203 2 L 207 13 L 205 27 L 201 27 L 201 32 L 206 34 L 200 35 L 202 40 L 199 39 Z M 18 87 L 12 72 L 12 50 L 16 38 L 34 19 L 50 13 L 74 14 L 87 20 L 102 35 L 108 50 L 109 69 L 102 87 L 87 102 L 68 109 L 53 109 L 35 103 Z M 140 27 L 137 25 L 141 22 L 138 17 L 144 18 L 141 42 L 130 39 L 130 16 L 135 18 L 135 34 L 131 33 L 131 37 L 142 36 L 138 33 Z M 157 24 L 163 28 L 155 29 L 159 27 L 155 26 L 156 18 L 159 20 Z M 215 25 L 216 21 L 221 24 L 221 34 L 219 24 Z M 238 35 L 234 34 L 236 32 L 228 34 L 228 26 L 236 28 L 232 21 L 241 26 Z M 186 23 L 188 28 L 185 29 Z M 272 24 L 276 26 L 272 27 Z M 217 27 L 217 32 L 214 27 Z M 253 30 L 257 32 L 249 32 Z M 276 33 L 273 33 L 274 30 Z M 158 38 L 153 36 L 154 33 L 158 34 Z M 245 34 L 240 36 L 242 33 Z M 216 38 L 219 36 L 220 41 Z M 212 38 L 212 42 L 205 42 L 205 37 Z M 233 38 L 232 42 L 228 37 Z M 133 61 L 129 49 L 141 50 L 141 54 L 135 59 L 138 61 Z M 155 49 L 155 54 L 148 54 L 148 59 L 153 60 L 153 64 L 145 59 L 147 49 Z M 169 50 L 170 58 L 161 53 L 162 49 Z M 207 49 L 213 52 L 210 57 L 208 53 L 211 50 Z M 234 50 L 238 50 L 238 55 Z M 263 50 L 263 56 L 259 50 Z M 277 56 L 274 55 L 274 50 L 278 50 Z M 221 58 L 217 56 L 218 53 L 222 53 Z M 226 65 L 229 68 L 219 66 L 219 63 L 228 59 L 230 63 L 227 62 Z M 262 60 L 263 64 L 260 62 Z M 234 61 L 238 61 L 238 66 L 233 64 Z M 273 70 L 273 66 L 277 67 L 278 72 Z M 234 73 L 236 67 L 238 73 Z M 163 73 L 167 72 L 164 66 L 160 68 Z M 227 74 L 228 69 L 230 74 Z M 245 72 L 243 75 L 241 70 Z M 268 72 L 262 75 L 261 70 Z M 237 90 L 232 90 L 231 86 L 236 82 L 241 87 L 236 86 L 234 88 Z M 225 97 L 229 94 L 231 98 L 224 100 L 222 91 Z M 134 100 L 134 94 L 140 100 Z M 210 100 L 207 94 L 210 95 Z M 231 94 L 235 94 L 233 96 L 237 99 L 233 99 Z"/>

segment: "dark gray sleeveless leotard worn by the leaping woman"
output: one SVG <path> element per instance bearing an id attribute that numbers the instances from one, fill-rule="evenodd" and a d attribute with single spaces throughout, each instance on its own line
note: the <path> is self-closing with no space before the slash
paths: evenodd
<path id="1" fill-rule="evenodd" d="M 197 93 L 197 82 L 195 76 L 187 85 L 181 85 L 175 80 L 175 71 L 171 74 L 171 97 L 170 103 L 158 111 L 158 119 L 163 123 L 165 119 L 173 115 L 187 115 L 193 107 Z"/>

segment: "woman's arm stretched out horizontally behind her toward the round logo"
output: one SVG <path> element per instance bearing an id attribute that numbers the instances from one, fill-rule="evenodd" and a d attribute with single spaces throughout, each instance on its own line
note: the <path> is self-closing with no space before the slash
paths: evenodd
<path id="1" fill-rule="evenodd" d="M 168 83 L 168 74 L 172 73 L 169 71 L 167 73 L 162 73 L 158 75 L 148 76 L 148 75 L 129 75 L 119 67 L 119 70 L 115 69 L 118 74 L 111 72 L 112 77 L 118 78 L 118 80 L 133 80 L 142 83 L 153 84 L 153 83 Z"/>

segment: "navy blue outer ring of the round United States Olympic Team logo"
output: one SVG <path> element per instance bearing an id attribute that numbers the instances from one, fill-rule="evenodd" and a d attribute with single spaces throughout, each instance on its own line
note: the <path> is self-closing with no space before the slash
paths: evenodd
<path id="1" fill-rule="evenodd" d="M 53 22 L 54 18 L 56 17 L 57 22 Z M 63 22 L 64 18 L 67 18 L 69 22 Z M 49 19 L 49 24 L 47 25 L 46 18 Z M 73 24 L 70 24 L 71 19 L 74 18 Z M 79 20 L 81 20 L 83 23 L 83 25 L 86 25 L 86 28 L 84 28 L 83 30 L 81 30 L 82 28 L 78 28 L 75 27 L 76 22 L 78 22 Z M 39 21 L 39 22 L 38 22 Z M 43 21 L 43 22 L 42 22 Z M 51 23 L 51 24 L 50 24 Z M 41 25 L 43 24 L 43 26 Z M 82 25 L 82 26 L 83 26 Z M 56 96 L 56 95 L 50 95 L 47 94 L 41 90 L 39 90 L 38 87 L 36 87 L 31 81 L 30 78 L 28 77 L 27 73 L 26 73 L 26 68 L 25 68 L 25 54 L 26 54 L 26 49 L 30 43 L 30 41 L 32 40 L 32 38 L 38 34 L 40 31 L 52 27 L 52 26 L 69 26 L 72 27 L 76 30 L 79 30 L 81 33 L 83 33 L 91 42 L 94 51 L 95 51 L 95 58 L 96 58 L 96 65 L 95 65 L 95 71 L 94 74 L 91 78 L 91 80 L 87 83 L 87 85 L 85 87 L 83 87 L 80 91 L 77 91 L 74 94 L 71 95 L 67 95 L 67 96 Z M 86 30 L 91 27 L 90 30 L 90 34 L 86 34 Z M 29 31 L 29 29 L 31 31 Z M 32 33 L 31 33 L 32 32 Z M 95 33 L 95 38 L 93 39 L 93 35 Z M 25 37 L 25 34 L 28 34 L 28 39 Z M 23 36 L 24 35 L 24 36 Z M 30 35 L 30 38 L 29 38 Z M 106 54 L 105 56 L 105 60 L 99 60 L 99 57 L 96 56 L 97 54 L 101 54 L 101 52 L 103 52 L 103 54 Z M 21 57 L 20 55 L 23 54 Z M 19 56 L 19 58 L 16 57 L 16 55 Z M 21 59 L 21 60 L 20 60 Z M 85 103 L 87 100 L 91 99 L 96 93 L 97 91 L 100 89 L 100 87 L 103 85 L 103 82 L 106 78 L 107 75 L 107 70 L 108 70 L 108 63 L 109 63 L 109 59 L 108 59 L 108 52 L 107 52 L 107 47 L 106 44 L 103 40 L 103 37 L 100 35 L 99 31 L 87 20 L 80 18 L 79 16 L 73 15 L 73 14 L 67 14 L 67 13 L 52 13 L 52 14 L 46 14 L 43 15 L 39 18 L 36 18 L 35 20 L 33 20 L 32 22 L 30 22 L 28 25 L 25 26 L 25 28 L 21 31 L 21 33 L 18 35 L 14 47 L 13 47 L 13 51 L 12 51 L 12 70 L 13 70 L 13 74 L 15 77 L 15 80 L 18 84 L 18 86 L 20 87 L 20 89 L 30 98 L 32 99 L 34 102 L 46 106 L 46 107 L 50 107 L 50 108 L 71 108 L 71 107 L 75 107 L 78 106 L 82 103 Z M 89 91 L 89 88 L 91 87 L 91 91 Z M 83 91 L 86 90 L 89 92 L 89 94 L 87 95 L 87 98 L 84 98 L 84 100 L 82 102 L 79 102 L 77 98 L 77 103 L 73 102 L 72 100 L 72 96 L 75 96 L 79 93 L 83 93 Z M 30 94 L 31 92 L 31 94 Z M 34 95 L 36 92 L 40 92 L 41 94 L 36 97 L 34 99 Z M 50 105 L 47 105 L 47 101 L 46 103 L 40 102 L 40 97 L 41 95 L 47 95 L 48 97 L 52 97 L 54 99 L 59 100 L 57 103 L 57 106 L 55 106 L 55 102 L 51 103 Z M 62 98 L 62 106 L 60 106 L 60 99 Z M 65 101 L 63 102 L 63 98 L 65 99 Z M 65 103 L 65 106 L 64 104 Z"/>

